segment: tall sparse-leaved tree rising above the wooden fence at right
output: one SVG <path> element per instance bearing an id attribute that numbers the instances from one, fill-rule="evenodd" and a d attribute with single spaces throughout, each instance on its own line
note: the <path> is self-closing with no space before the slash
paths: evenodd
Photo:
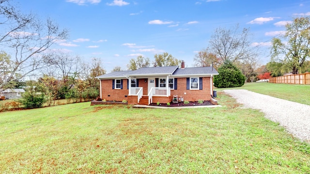
<path id="1" fill-rule="evenodd" d="M 282 71 L 298 74 L 310 57 L 310 19 L 296 17 L 286 24 L 285 35 L 272 40 L 271 61 L 281 60 Z"/>

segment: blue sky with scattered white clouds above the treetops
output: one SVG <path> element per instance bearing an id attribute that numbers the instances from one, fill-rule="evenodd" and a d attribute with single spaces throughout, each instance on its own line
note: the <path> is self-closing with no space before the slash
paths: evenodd
<path id="1" fill-rule="evenodd" d="M 21 10 L 51 17 L 70 38 L 56 46 L 85 61 L 101 58 L 110 72 L 131 58 L 154 60 L 168 52 L 193 66 L 218 27 L 250 28 L 262 64 L 272 37 L 296 15 L 310 15 L 310 0 L 16 0 Z"/>

